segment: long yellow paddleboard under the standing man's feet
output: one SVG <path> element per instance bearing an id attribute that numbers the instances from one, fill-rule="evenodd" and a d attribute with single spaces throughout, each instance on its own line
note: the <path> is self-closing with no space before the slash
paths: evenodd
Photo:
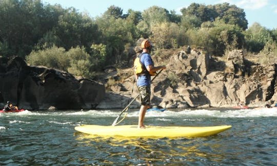
<path id="1" fill-rule="evenodd" d="M 138 129 L 136 125 L 123 126 L 98 126 L 83 124 L 75 127 L 81 133 L 97 136 L 120 136 L 120 137 L 206 137 L 218 134 L 230 129 L 232 126 L 212 126 L 212 127 L 163 127 L 147 126 L 145 129 Z"/>

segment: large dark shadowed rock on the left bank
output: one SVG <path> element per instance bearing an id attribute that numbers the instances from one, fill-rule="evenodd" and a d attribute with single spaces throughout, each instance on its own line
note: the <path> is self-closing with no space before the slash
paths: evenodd
<path id="1" fill-rule="evenodd" d="M 0 59 L 0 102 L 29 110 L 91 109 L 105 96 L 104 85 L 68 72 L 28 66 L 20 57 Z"/>

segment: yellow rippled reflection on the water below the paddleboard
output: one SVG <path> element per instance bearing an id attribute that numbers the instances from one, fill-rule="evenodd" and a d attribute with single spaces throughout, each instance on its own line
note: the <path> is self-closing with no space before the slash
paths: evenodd
<path id="1" fill-rule="evenodd" d="M 211 136 L 209 139 L 214 139 Z M 91 147 L 105 154 L 104 158 L 114 161 L 125 161 L 126 164 L 165 164 L 194 162 L 209 158 L 210 161 L 220 161 L 222 154 L 211 153 L 220 149 L 221 144 L 205 143 L 207 138 L 180 139 L 149 139 L 126 137 L 98 137 L 88 134 L 75 133 L 75 139 L 80 146 Z M 101 157 L 103 158 L 103 156 Z M 94 158 L 98 160 L 99 158 Z M 88 160 L 83 158 L 82 160 Z M 100 164 L 100 163 L 97 163 Z"/>

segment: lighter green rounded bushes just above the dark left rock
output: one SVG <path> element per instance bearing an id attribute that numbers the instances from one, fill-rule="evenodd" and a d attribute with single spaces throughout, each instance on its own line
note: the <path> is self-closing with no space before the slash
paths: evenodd
<path id="1" fill-rule="evenodd" d="M 103 64 L 106 46 L 103 44 L 91 46 L 91 55 L 85 47 L 75 47 L 66 51 L 64 48 L 53 46 L 44 50 L 32 51 L 26 57 L 27 63 L 36 66 L 46 66 L 68 71 L 76 76 L 93 77 L 95 70 Z"/>

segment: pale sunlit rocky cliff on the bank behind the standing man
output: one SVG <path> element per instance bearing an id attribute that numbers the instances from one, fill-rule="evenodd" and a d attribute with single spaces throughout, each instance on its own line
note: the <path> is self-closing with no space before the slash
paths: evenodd
<path id="1" fill-rule="evenodd" d="M 277 101 L 276 64 L 255 64 L 245 59 L 242 50 L 233 50 L 226 58 L 222 60 L 196 49 L 166 57 L 153 56 L 155 63 L 166 64 L 167 70 L 153 81 L 151 102 L 163 108 L 205 108 L 235 107 L 240 101 L 249 107 L 263 107 L 265 102 L 274 104 Z M 126 106 L 133 79 L 130 76 L 111 86 L 111 91 L 96 108 Z M 137 88 L 134 89 L 133 97 L 138 94 Z M 131 107 L 140 107 L 139 100 Z"/>

